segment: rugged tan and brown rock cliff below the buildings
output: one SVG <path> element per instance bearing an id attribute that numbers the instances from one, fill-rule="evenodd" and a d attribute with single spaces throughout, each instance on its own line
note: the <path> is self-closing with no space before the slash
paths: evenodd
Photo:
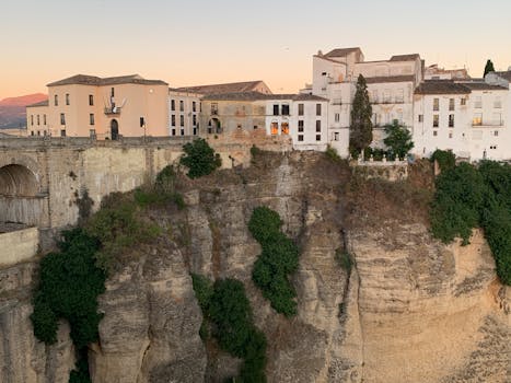
<path id="1" fill-rule="evenodd" d="M 422 174 L 428 177 L 428 174 Z M 353 179 L 322 154 L 256 155 L 248 169 L 181 183 L 187 209 L 154 209 L 164 229 L 132 248 L 101 297 L 94 382 L 221 382 L 239 360 L 199 338 L 190 272 L 245 283 L 268 339 L 269 382 L 508 382 L 509 288 L 496 279 L 480 232 L 471 245 L 432 240 L 427 184 Z M 260 253 L 254 207 L 277 210 L 300 244 L 299 314 L 271 310 L 251 280 Z M 342 268 L 350 254 L 352 268 Z M 0 381 L 67 382 L 73 350 L 34 339 L 28 315 L 36 262 L 1 270 Z"/>

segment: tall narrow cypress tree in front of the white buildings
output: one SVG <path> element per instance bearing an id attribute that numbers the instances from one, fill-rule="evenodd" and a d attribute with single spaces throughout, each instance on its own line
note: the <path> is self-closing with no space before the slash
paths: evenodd
<path id="1" fill-rule="evenodd" d="M 369 102 L 368 85 L 363 76 L 359 74 L 349 127 L 349 148 L 352 155 L 361 153 L 373 140 L 371 116 L 372 107 Z"/>

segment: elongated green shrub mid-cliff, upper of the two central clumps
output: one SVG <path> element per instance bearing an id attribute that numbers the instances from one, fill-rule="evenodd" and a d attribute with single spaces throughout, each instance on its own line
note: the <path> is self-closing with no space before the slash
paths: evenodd
<path id="1" fill-rule="evenodd" d="M 254 264 L 252 279 L 277 312 L 293 316 L 297 314 L 297 293 L 289 275 L 297 271 L 300 253 L 298 246 L 280 232 L 281 224 L 279 214 L 267 207 L 255 208 L 252 212 L 248 230 L 263 248 Z"/>

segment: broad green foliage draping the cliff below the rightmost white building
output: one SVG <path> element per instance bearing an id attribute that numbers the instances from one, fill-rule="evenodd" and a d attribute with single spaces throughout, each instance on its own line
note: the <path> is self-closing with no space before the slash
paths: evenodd
<path id="1" fill-rule="evenodd" d="M 511 166 L 484 161 L 442 171 L 431 206 L 433 235 L 443 242 L 461 236 L 466 244 L 480 227 L 493 254 L 497 275 L 511 285 Z"/>

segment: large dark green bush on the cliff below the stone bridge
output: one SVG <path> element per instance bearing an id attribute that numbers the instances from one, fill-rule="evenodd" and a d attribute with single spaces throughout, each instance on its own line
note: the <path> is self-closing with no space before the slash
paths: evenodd
<path id="1" fill-rule="evenodd" d="M 106 274 L 95 266 L 97 239 L 81 229 L 63 233 L 59 253 L 50 253 L 40 262 L 39 285 L 31 315 L 34 335 L 47 344 L 57 340 L 57 320 L 71 326 L 77 348 L 97 340 L 97 295 L 105 291 Z"/>

